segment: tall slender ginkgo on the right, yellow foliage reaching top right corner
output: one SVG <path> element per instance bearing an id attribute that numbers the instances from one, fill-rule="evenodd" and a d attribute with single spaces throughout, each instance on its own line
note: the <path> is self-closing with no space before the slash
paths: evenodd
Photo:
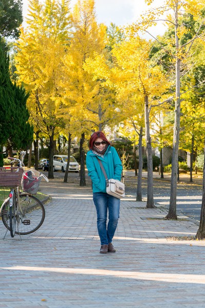
<path id="1" fill-rule="evenodd" d="M 155 0 L 145 0 L 147 5 L 155 3 Z M 136 36 L 137 33 L 150 34 L 158 44 L 161 50 L 170 56 L 171 62 L 175 64 L 175 122 L 173 133 L 173 155 L 172 155 L 172 176 L 171 176 L 171 194 L 170 207 L 166 219 L 177 219 L 176 214 L 176 194 L 177 194 L 177 167 L 178 167 L 178 149 L 179 149 L 179 131 L 180 131 L 180 77 L 181 66 L 190 56 L 190 50 L 195 40 L 204 40 L 205 17 L 204 17 L 204 0 L 163 0 L 159 7 L 147 10 L 141 15 L 139 21 L 127 27 L 129 35 Z M 184 34 L 188 34 L 189 28 L 180 24 L 180 16 L 191 14 L 197 21 L 194 29 L 194 35 L 190 40 L 185 42 L 181 40 Z M 166 44 L 155 37 L 151 32 L 151 27 L 155 26 L 158 21 L 163 20 L 169 27 L 174 30 L 174 36 L 168 37 Z M 193 29 L 192 29 L 193 30 Z"/>

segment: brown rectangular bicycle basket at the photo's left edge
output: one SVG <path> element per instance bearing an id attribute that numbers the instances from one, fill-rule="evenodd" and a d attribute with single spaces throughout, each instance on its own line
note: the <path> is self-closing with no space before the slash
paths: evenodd
<path id="1" fill-rule="evenodd" d="M 0 167 L 0 186 L 21 186 L 23 168 Z"/>

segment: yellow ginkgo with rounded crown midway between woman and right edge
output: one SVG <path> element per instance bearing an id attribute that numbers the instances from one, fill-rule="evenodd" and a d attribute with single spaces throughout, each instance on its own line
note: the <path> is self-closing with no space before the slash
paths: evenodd
<path id="1" fill-rule="evenodd" d="M 169 82 L 161 68 L 151 61 L 151 47 L 152 42 L 139 36 L 126 37 L 120 44 L 114 45 L 111 51 L 114 59 L 112 67 L 102 53 L 96 53 L 94 60 L 87 61 L 96 80 L 101 78 L 105 85 L 115 87 L 121 120 L 133 116 L 133 104 L 128 106 L 126 103 L 132 101 L 132 95 L 137 97 L 135 101 L 140 111 L 143 102 L 148 167 L 147 207 L 154 207 L 150 113 L 152 107 L 162 104 L 162 95 L 164 101 L 170 100 L 169 95 L 164 94 L 169 88 Z"/>

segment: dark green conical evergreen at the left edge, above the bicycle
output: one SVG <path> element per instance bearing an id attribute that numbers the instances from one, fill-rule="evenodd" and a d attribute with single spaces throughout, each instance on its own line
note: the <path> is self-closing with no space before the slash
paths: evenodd
<path id="1" fill-rule="evenodd" d="M 0 39 L 0 165 L 3 165 L 3 146 L 25 148 L 32 142 L 33 128 L 28 123 L 29 113 L 23 87 L 12 84 L 9 75 L 9 56 Z"/>

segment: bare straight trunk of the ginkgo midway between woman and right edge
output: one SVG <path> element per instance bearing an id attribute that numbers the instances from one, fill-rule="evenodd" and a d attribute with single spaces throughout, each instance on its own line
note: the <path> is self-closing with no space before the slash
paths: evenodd
<path id="1" fill-rule="evenodd" d="M 153 161 L 152 161 L 152 145 L 150 136 L 150 114 L 148 110 L 148 97 L 145 95 L 144 98 L 145 108 L 145 139 L 146 139 L 146 158 L 147 158 L 147 208 L 153 208 Z"/>

